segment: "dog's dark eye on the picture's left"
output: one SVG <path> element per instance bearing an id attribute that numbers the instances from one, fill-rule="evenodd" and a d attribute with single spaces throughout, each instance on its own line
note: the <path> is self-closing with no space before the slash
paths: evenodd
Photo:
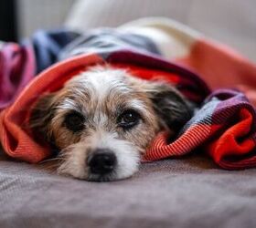
<path id="1" fill-rule="evenodd" d="M 74 132 L 83 130 L 84 117 L 78 112 L 71 112 L 65 117 L 64 124 L 67 129 Z"/>

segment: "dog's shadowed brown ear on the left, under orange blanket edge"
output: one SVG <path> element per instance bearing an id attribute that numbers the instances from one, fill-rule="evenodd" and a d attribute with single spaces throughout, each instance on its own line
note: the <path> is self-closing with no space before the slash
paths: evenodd
<path id="1" fill-rule="evenodd" d="M 55 106 L 55 94 L 50 93 L 39 98 L 32 108 L 28 124 L 35 140 L 50 140 L 48 125 L 54 116 Z"/>

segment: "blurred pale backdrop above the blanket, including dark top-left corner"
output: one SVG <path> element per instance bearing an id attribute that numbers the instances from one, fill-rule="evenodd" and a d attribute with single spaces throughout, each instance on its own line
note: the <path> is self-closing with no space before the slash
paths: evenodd
<path id="1" fill-rule="evenodd" d="M 17 41 L 38 28 L 86 31 L 167 16 L 256 61 L 255 9 L 255 0 L 1 0 L 0 40 Z"/>

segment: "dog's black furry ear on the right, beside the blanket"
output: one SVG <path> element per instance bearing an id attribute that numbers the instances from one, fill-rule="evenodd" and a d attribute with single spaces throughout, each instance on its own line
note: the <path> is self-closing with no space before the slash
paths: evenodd
<path id="1" fill-rule="evenodd" d="M 149 86 L 149 96 L 163 127 L 177 133 L 193 114 L 192 105 L 173 86 L 155 81 Z"/>

